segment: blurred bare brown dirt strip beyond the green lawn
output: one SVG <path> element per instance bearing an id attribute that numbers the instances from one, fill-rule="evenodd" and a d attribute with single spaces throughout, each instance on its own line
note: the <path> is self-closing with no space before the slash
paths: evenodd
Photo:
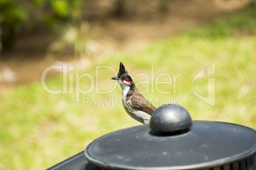
<path id="1" fill-rule="evenodd" d="M 85 4 L 83 20 L 90 24 L 90 32 L 108 37 L 105 45 L 110 49 L 108 53 L 94 56 L 92 62 L 117 51 L 132 53 L 152 41 L 237 13 L 248 3 L 245 0 L 127 1 L 128 10 L 117 17 L 111 15 L 111 2 L 90 0 Z M 0 55 L 0 91 L 40 81 L 43 70 L 58 61 L 75 66 L 78 59 L 73 55 L 48 55 L 46 49 L 57 38 L 57 34 L 42 31 L 20 35 L 13 49 Z M 51 72 L 49 76 L 56 74 Z"/>

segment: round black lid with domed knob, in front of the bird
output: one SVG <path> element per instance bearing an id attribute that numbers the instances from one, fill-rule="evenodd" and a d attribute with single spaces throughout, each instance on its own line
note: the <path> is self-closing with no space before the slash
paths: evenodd
<path id="1" fill-rule="evenodd" d="M 157 110 L 153 113 L 150 127 L 152 123 L 153 127 L 158 127 L 155 122 L 162 124 L 161 114 L 177 115 L 177 109 L 191 119 L 184 108 L 177 107 L 158 108 L 160 114 Z M 169 119 L 173 123 L 180 120 L 164 116 L 173 117 Z M 183 126 L 185 129 L 178 131 L 160 131 L 161 125 L 155 130 L 141 125 L 106 134 L 90 143 L 85 149 L 85 157 L 101 169 L 239 170 L 252 166 L 256 154 L 254 129 L 212 121 L 193 121 L 189 126 L 187 119 L 180 122 L 182 126 L 182 122 L 187 122 L 187 126 Z"/>

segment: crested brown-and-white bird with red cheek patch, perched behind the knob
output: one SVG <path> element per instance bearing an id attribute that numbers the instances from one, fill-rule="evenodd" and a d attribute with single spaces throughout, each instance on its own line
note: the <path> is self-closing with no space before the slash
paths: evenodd
<path id="1" fill-rule="evenodd" d="M 120 84 L 122 89 L 122 103 L 124 109 L 133 119 L 143 124 L 149 124 L 151 115 L 157 109 L 152 103 L 139 93 L 131 76 L 125 71 L 125 67 L 120 62 L 117 77 L 111 77 Z"/>

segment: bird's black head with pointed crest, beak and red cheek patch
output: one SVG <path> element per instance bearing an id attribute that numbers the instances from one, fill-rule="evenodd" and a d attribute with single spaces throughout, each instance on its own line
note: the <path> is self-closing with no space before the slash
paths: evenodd
<path id="1" fill-rule="evenodd" d="M 112 77 L 111 79 L 123 82 L 127 86 L 132 86 L 134 82 L 132 81 L 132 77 L 125 71 L 125 67 L 122 62 L 120 62 L 119 72 L 117 77 Z"/>

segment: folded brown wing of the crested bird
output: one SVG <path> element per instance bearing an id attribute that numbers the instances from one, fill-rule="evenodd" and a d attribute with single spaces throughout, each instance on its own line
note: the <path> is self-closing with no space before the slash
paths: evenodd
<path id="1" fill-rule="evenodd" d="M 138 91 L 134 91 L 130 100 L 134 108 L 137 108 L 138 110 L 146 112 L 150 115 L 152 115 L 157 109 Z"/>

